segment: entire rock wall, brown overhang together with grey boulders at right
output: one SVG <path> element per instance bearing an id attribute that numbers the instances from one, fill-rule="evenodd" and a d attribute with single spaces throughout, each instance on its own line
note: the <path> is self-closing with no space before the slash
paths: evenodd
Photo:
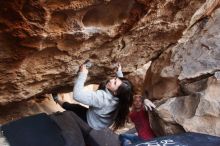
<path id="1" fill-rule="evenodd" d="M 2 0 L 0 105 L 9 108 L 0 108 L 25 107 L 34 102 L 30 98 L 71 91 L 86 59 L 94 63 L 87 84 L 114 75 L 114 64 L 121 62 L 136 92 L 157 100 L 151 124 L 158 135 L 220 135 L 219 3 Z M 142 87 L 145 73 L 137 69 L 149 61 Z"/>

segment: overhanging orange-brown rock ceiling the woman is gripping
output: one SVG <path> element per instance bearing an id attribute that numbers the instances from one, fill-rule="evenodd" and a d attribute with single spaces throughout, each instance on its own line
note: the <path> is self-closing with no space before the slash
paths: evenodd
<path id="1" fill-rule="evenodd" d="M 78 66 L 89 82 L 141 68 L 175 44 L 204 0 L 1 1 L 0 103 L 72 90 Z M 88 82 L 88 83 L 89 83 Z"/>

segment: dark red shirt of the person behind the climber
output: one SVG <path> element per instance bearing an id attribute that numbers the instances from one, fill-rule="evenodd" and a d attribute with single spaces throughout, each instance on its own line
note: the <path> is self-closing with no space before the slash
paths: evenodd
<path id="1" fill-rule="evenodd" d="M 134 123 L 138 136 L 143 140 L 149 140 L 155 137 L 149 123 L 149 117 L 144 108 L 140 111 L 131 111 L 130 119 Z"/>

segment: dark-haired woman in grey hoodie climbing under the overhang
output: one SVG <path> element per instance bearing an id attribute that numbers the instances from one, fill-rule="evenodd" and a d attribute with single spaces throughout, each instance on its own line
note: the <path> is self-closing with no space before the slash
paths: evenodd
<path id="1" fill-rule="evenodd" d="M 74 84 L 73 98 L 88 105 L 88 109 L 79 104 L 62 102 L 53 95 L 55 101 L 64 109 L 75 112 L 94 129 L 100 130 L 112 124 L 114 130 L 123 127 L 132 104 L 133 86 L 130 81 L 123 78 L 121 65 L 118 64 L 117 77 L 104 82 L 102 88 L 97 91 L 84 90 L 87 74 L 88 69 L 82 65 Z"/>

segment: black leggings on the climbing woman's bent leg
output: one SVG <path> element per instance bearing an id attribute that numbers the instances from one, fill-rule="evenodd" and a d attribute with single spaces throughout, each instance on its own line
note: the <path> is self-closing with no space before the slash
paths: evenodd
<path id="1" fill-rule="evenodd" d="M 73 104 L 73 103 L 69 103 L 69 102 L 64 102 L 62 104 L 62 107 L 65 109 L 65 110 L 68 110 L 68 111 L 72 111 L 74 112 L 78 117 L 80 117 L 84 122 L 88 123 L 87 122 L 87 117 L 86 117 L 86 113 L 88 111 L 88 108 L 82 106 L 82 105 L 79 105 L 79 104 Z"/>

